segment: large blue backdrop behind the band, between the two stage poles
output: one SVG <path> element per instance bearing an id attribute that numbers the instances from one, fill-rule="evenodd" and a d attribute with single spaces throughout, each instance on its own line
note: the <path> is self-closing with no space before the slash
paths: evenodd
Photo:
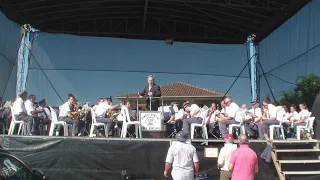
<path id="1" fill-rule="evenodd" d="M 47 33 L 37 36 L 32 55 L 30 67 L 36 69 L 29 70 L 27 89 L 52 104 L 61 101 L 36 61 L 63 99 L 74 93 L 83 102 L 139 91 L 149 74 L 159 85 L 183 81 L 225 93 L 247 62 L 243 45 L 168 46 L 164 41 Z M 241 76 L 229 92 L 239 104 L 251 101 L 248 68 Z"/>

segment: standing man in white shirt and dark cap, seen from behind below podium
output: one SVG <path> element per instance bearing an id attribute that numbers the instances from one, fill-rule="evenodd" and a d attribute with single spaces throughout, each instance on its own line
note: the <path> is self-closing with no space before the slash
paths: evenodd
<path id="1" fill-rule="evenodd" d="M 168 177 L 172 166 L 173 180 L 193 180 L 198 177 L 199 173 L 199 159 L 196 148 L 186 143 L 188 134 L 183 131 L 178 132 L 176 139 L 178 142 L 172 143 L 168 150 L 163 174 Z"/>

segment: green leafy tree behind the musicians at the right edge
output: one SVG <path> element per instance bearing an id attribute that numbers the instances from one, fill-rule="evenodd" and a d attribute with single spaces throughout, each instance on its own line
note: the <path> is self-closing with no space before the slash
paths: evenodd
<path id="1" fill-rule="evenodd" d="M 283 92 L 280 99 L 280 104 L 295 104 L 305 102 L 308 108 L 311 110 L 313 102 L 320 92 L 320 77 L 309 74 L 306 76 L 301 76 L 297 79 L 296 87 L 289 90 L 288 92 Z"/>

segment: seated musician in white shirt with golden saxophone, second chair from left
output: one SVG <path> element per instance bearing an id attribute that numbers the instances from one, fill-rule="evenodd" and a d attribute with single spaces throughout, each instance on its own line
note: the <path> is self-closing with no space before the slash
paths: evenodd
<path id="1" fill-rule="evenodd" d="M 72 136 L 77 136 L 79 132 L 79 119 L 72 119 L 72 116 L 76 115 L 78 112 L 72 112 L 71 109 L 71 106 L 74 102 L 75 97 L 73 96 L 73 94 L 68 94 L 67 102 L 59 107 L 60 110 L 58 120 L 64 121 L 67 124 L 72 124 Z"/>

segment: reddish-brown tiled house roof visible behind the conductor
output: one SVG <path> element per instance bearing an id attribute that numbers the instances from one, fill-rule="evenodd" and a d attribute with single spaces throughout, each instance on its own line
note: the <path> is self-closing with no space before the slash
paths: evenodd
<path id="1" fill-rule="evenodd" d="M 201 88 L 185 82 L 174 82 L 160 86 L 162 97 L 222 97 L 224 94 L 212 91 L 207 88 Z M 138 97 L 138 92 L 120 95 L 117 98 Z"/>

